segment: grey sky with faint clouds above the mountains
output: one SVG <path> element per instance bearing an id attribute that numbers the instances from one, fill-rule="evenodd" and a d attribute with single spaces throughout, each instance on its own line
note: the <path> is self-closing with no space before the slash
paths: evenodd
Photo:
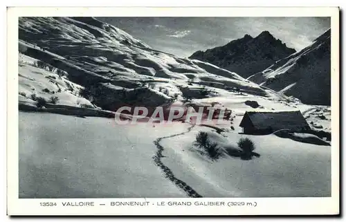
<path id="1" fill-rule="evenodd" d="M 330 28 L 330 17 L 99 17 L 152 48 L 189 57 L 245 34 L 268 30 L 286 46 L 301 50 Z"/>

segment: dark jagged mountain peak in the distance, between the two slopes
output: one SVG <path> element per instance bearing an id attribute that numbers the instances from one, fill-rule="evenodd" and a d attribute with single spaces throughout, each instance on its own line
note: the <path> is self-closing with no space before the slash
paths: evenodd
<path id="1" fill-rule="evenodd" d="M 257 37 L 244 35 L 224 46 L 205 52 L 199 50 L 193 53 L 190 59 L 210 62 L 242 77 L 249 77 L 292 53 L 295 53 L 295 49 L 288 48 L 280 39 L 275 39 L 271 33 L 263 31 Z"/>

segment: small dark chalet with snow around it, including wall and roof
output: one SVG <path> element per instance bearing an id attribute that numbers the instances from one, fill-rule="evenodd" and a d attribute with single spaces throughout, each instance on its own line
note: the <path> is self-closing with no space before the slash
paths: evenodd
<path id="1" fill-rule="evenodd" d="M 268 134 L 280 129 L 294 132 L 310 130 L 300 111 L 246 112 L 239 127 L 245 134 Z"/>

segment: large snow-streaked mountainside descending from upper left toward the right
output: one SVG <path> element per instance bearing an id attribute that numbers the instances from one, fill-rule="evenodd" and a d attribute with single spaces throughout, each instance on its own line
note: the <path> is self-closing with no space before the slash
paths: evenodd
<path id="1" fill-rule="evenodd" d="M 84 98 L 111 111 L 118 104 L 158 106 L 174 98 L 229 96 L 239 91 L 281 98 L 207 62 L 149 48 L 94 18 L 21 17 L 19 53 L 19 90 L 27 102 L 33 93 L 44 98 L 54 94 L 64 104 L 80 105 L 78 92 L 84 87 Z M 45 71 L 37 61 L 47 64 Z"/>

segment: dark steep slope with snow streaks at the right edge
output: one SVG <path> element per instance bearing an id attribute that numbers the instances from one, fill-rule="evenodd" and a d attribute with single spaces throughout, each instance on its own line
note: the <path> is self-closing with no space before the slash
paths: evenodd
<path id="1" fill-rule="evenodd" d="M 310 46 L 280 59 L 264 71 L 248 77 L 262 86 L 292 95 L 305 104 L 331 103 L 330 29 Z"/>

